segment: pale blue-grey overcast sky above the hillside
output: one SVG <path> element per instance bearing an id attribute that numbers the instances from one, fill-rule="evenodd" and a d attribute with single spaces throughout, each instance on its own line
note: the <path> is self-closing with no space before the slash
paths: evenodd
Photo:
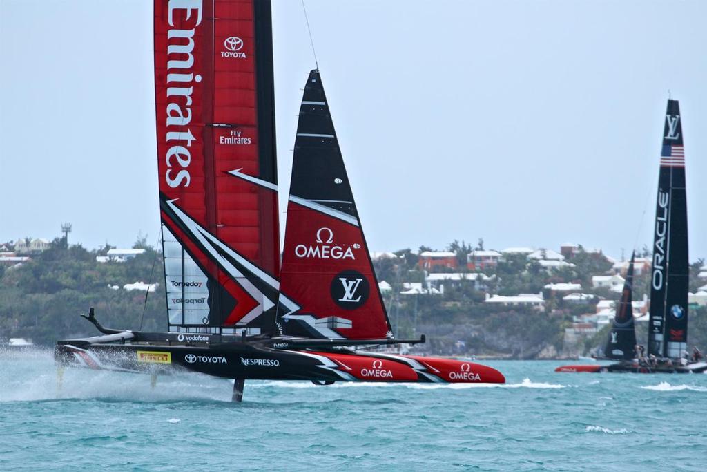
<path id="1" fill-rule="evenodd" d="M 273 0 L 281 217 L 302 4 Z M 306 0 L 372 251 L 650 246 L 669 91 L 707 257 L 707 2 Z M 0 0 L 0 241 L 159 238 L 150 1 Z"/>

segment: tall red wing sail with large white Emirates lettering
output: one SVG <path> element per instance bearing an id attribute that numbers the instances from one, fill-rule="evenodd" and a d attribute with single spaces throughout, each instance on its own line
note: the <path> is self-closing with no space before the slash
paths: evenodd
<path id="1" fill-rule="evenodd" d="M 279 230 L 270 2 L 154 8 L 170 330 L 271 331 Z"/>

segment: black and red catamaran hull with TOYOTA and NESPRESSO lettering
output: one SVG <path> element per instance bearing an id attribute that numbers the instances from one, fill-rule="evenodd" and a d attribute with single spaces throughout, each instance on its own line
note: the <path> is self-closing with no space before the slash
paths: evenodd
<path id="1" fill-rule="evenodd" d="M 199 372 L 227 379 L 373 382 L 489 383 L 506 381 L 492 367 L 455 359 L 386 355 L 290 351 L 233 345 L 57 345 L 57 364 L 67 367 L 170 374 Z"/>

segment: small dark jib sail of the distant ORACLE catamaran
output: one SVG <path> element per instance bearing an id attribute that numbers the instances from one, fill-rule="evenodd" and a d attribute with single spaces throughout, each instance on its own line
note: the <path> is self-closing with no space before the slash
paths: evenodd
<path id="1" fill-rule="evenodd" d="M 636 357 L 636 328 L 633 326 L 633 258 L 626 271 L 624 290 L 617 305 L 609 340 L 604 347 L 604 356 L 612 359 L 633 359 Z"/>

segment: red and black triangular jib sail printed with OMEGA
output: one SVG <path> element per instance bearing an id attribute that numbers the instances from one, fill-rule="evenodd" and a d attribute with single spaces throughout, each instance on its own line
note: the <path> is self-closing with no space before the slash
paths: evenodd
<path id="1" fill-rule="evenodd" d="M 295 139 L 278 321 L 287 335 L 392 337 L 317 70 Z"/>

